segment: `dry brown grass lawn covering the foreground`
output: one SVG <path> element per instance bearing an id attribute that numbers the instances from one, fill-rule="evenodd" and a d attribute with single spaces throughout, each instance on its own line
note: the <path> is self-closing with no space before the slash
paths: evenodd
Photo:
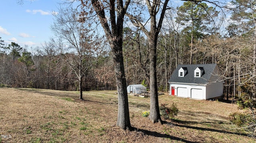
<path id="1" fill-rule="evenodd" d="M 177 104 L 180 112 L 164 125 L 141 116 L 149 111 L 149 98 L 129 96 L 130 121 L 135 131 L 116 126 L 115 91 L 78 92 L 0 88 L 0 138 L 2 143 L 254 143 L 241 130 L 228 130 L 228 115 L 236 105 L 191 100 L 168 95 L 159 102 Z"/>

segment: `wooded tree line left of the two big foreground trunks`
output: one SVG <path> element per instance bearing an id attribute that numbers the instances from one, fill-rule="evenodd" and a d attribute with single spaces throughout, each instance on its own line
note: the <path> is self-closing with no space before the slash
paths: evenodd
<path id="1" fill-rule="evenodd" d="M 70 66 L 70 64 L 76 64 L 73 59 L 74 53 L 62 53 L 62 49 L 55 47 L 55 42 L 52 42 L 54 41 L 44 43 L 42 47 L 32 49 L 32 52 L 28 52 L 30 50 L 28 47 L 22 48 L 18 46 L 20 47 L 18 50 L 15 49 L 16 47 L 12 49 L 12 45 L 18 45 L 16 43 L 2 47 L 0 82 L 20 88 L 79 90 L 76 74 L 74 74 Z M 100 76 L 105 78 L 103 72 L 102 74 L 98 73 L 99 70 L 104 68 L 104 63 L 111 63 L 107 54 L 108 52 L 105 51 L 99 54 L 98 57 L 87 56 L 84 59 L 83 62 L 88 62 L 90 59 L 90 64 L 92 64 L 83 73 L 85 75 L 82 79 L 84 81 L 84 90 L 105 87 L 108 83 L 108 87 L 115 89 L 112 86 L 112 80 L 108 82 L 106 82 L 107 79 L 104 82 L 97 80 L 101 78 Z M 107 70 L 110 69 L 105 71 Z M 98 73 L 97 76 L 95 73 Z"/>

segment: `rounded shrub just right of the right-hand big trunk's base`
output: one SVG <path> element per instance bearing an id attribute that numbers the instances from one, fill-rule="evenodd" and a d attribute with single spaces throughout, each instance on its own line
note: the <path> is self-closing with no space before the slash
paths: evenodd
<path id="1" fill-rule="evenodd" d="M 164 119 L 172 119 L 174 116 L 178 115 L 178 107 L 175 103 L 172 103 L 172 106 L 169 108 L 167 107 L 168 104 L 161 104 L 160 106 L 160 115 Z"/>

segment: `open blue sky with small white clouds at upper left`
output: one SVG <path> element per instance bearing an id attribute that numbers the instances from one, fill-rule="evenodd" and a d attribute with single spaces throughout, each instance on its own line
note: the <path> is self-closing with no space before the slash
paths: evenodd
<path id="1" fill-rule="evenodd" d="M 41 46 L 54 37 L 50 25 L 54 22 L 53 11 L 58 11 L 61 0 L 2 0 L 0 8 L 0 37 L 6 44 L 18 43 L 21 47 Z"/>

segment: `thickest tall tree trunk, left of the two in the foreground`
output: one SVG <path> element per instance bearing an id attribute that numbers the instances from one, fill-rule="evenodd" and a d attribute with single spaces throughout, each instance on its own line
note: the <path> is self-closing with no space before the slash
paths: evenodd
<path id="1" fill-rule="evenodd" d="M 83 0 L 81 0 L 83 2 Z M 129 107 L 128 107 L 128 94 L 127 85 L 124 71 L 124 57 L 123 57 L 123 24 L 124 14 L 130 4 L 130 0 L 126 0 L 125 5 L 122 0 L 110 0 L 109 1 L 109 14 L 110 24 L 105 16 L 104 8 L 100 0 L 91 0 L 92 6 L 100 20 L 102 28 L 104 29 L 106 38 L 110 44 L 113 52 L 114 71 L 116 72 L 116 86 L 118 93 L 118 118 L 117 125 L 121 129 L 131 130 Z M 116 3 L 115 3 L 116 2 Z M 115 11 L 115 8 L 118 8 Z"/>

